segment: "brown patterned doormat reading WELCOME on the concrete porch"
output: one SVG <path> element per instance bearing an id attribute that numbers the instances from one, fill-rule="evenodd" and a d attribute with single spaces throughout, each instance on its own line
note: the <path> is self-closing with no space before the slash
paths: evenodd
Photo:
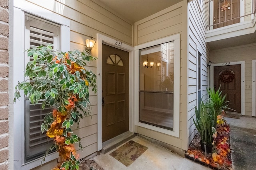
<path id="1" fill-rule="evenodd" d="M 110 156 L 124 164 L 126 167 L 130 166 L 140 155 L 142 155 L 148 147 L 140 145 L 134 141 L 129 141 L 122 147 L 110 153 Z"/>

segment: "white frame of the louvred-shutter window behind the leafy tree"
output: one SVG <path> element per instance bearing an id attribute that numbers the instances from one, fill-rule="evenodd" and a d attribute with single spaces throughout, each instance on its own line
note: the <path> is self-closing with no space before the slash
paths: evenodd
<path id="1" fill-rule="evenodd" d="M 24 51 L 25 46 L 25 13 L 32 14 L 39 18 L 51 21 L 53 23 L 58 23 L 60 26 L 60 50 L 69 51 L 70 50 L 70 21 L 58 14 L 55 14 L 49 10 L 41 8 L 35 4 L 27 2 L 25 0 L 14 0 L 13 8 L 13 58 L 12 60 L 12 76 L 13 76 L 13 89 L 18 83 L 18 81 L 24 80 L 25 70 L 25 56 Z M 20 100 L 17 100 L 13 107 L 13 152 L 14 156 L 14 169 L 27 170 L 40 166 L 42 157 L 25 163 L 25 139 L 24 139 L 24 111 L 25 111 L 25 100 L 24 93 L 21 92 Z M 13 98 L 13 97 L 12 97 Z M 43 164 L 49 162 L 58 157 L 58 153 L 52 153 L 46 156 Z"/>

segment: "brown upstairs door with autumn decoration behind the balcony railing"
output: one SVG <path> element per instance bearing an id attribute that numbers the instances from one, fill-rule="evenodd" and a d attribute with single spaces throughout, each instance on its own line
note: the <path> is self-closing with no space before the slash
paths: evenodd
<path id="1" fill-rule="evenodd" d="M 214 29 L 240 22 L 239 2 L 240 0 L 214 0 L 214 24 L 217 24 L 213 26 Z"/>

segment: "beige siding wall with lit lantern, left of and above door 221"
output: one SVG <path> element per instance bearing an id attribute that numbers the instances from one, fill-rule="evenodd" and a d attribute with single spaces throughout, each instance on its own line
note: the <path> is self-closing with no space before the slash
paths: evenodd
<path id="1" fill-rule="evenodd" d="M 83 51 L 86 47 L 85 39 L 89 36 L 96 38 L 100 33 L 110 38 L 117 39 L 128 45 L 132 45 L 132 23 L 114 14 L 108 7 L 99 5 L 91 0 L 27 0 L 50 12 L 54 12 L 70 20 L 70 50 L 79 49 Z M 97 46 L 95 45 L 91 54 L 96 56 Z M 92 70 L 97 74 L 97 63 L 92 61 L 85 66 L 86 70 Z M 81 138 L 84 151 L 80 150 L 80 158 L 88 156 L 97 151 L 97 93 L 89 88 L 92 116 L 80 120 L 79 128 L 74 134 Z M 101 123 L 101 122 L 99 122 Z M 75 129 L 76 125 L 74 125 Z M 78 148 L 77 148 L 78 149 Z M 52 163 L 53 162 L 53 163 Z M 47 163 L 36 169 L 51 169 L 56 161 Z"/>

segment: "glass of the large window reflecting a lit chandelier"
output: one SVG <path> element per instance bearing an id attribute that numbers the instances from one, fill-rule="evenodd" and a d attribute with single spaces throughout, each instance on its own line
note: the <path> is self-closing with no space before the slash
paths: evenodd
<path id="1" fill-rule="evenodd" d="M 145 124 L 148 124 L 148 125 L 153 125 L 153 126 L 156 126 L 156 127 L 160 127 L 160 128 L 163 128 L 163 129 L 168 129 L 168 130 L 172 131 L 173 130 L 173 125 L 170 127 L 167 124 L 164 125 L 164 123 L 157 123 L 157 122 L 154 122 L 153 120 L 149 121 L 149 120 L 146 120 L 145 118 L 143 120 L 143 116 L 148 114 L 147 111 L 143 111 L 144 109 L 146 109 L 146 110 L 151 110 L 151 111 L 160 111 L 160 112 L 165 113 L 165 114 L 166 113 L 170 114 L 167 117 L 168 118 L 171 117 L 171 119 L 172 119 L 171 123 L 173 124 L 173 121 L 174 121 L 174 119 L 173 119 L 173 104 L 174 104 L 173 86 L 169 87 L 169 88 L 172 88 L 172 90 L 167 89 L 167 88 L 162 89 L 159 86 L 160 84 L 158 84 L 159 81 L 160 81 L 160 83 L 162 83 L 165 80 L 166 77 L 170 76 L 169 73 L 172 72 L 172 66 L 171 65 L 174 65 L 174 63 L 172 63 L 172 62 L 174 62 L 174 60 L 173 60 L 174 58 L 172 58 L 172 57 L 174 57 L 174 55 L 172 54 L 172 51 L 174 52 L 174 47 L 171 48 L 171 46 L 174 46 L 174 41 L 162 43 L 162 44 L 152 46 L 152 47 L 147 47 L 145 49 L 139 49 L 139 75 L 140 75 L 140 80 L 139 80 L 139 102 L 140 102 L 140 104 L 139 104 L 139 122 L 145 123 Z M 165 50 L 166 50 L 166 58 L 164 58 L 164 56 L 163 57 L 162 56 L 157 56 L 155 54 L 155 53 L 159 53 L 159 52 L 162 52 L 164 54 Z M 148 59 L 148 56 L 150 56 L 150 61 L 155 62 L 154 66 L 151 69 L 150 68 L 145 69 L 143 67 L 143 65 L 141 64 L 141 63 L 143 63 L 143 61 L 145 61 L 145 56 L 147 57 L 147 59 Z M 161 61 L 162 65 L 161 66 L 156 66 L 156 61 Z M 158 67 L 160 67 L 160 70 L 159 70 Z M 147 72 L 150 72 L 150 73 L 147 74 Z M 144 81 L 144 75 L 145 76 L 151 75 L 151 76 L 154 77 L 154 82 L 152 83 L 152 84 L 154 84 L 154 89 L 148 89 L 149 88 L 147 86 L 148 84 L 146 84 L 145 81 Z M 142 76 L 143 76 L 143 78 L 141 79 Z M 154 103 L 160 102 L 159 104 L 164 102 L 164 101 L 160 101 L 161 97 L 166 96 L 165 101 L 167 103 L 166 103 L 165 106 L 170 104 L 171 109 L 167 109 L 167 108 L 164 109 L 164 108 L 152 106 L 151 104 L 146 104 L 147 103 L 146 102 L 147 97 L 145 97 L 145 96 L 148 96 L 148 97 L 151 96 L 152 98 L 150 98 L 150 101 L 155 100 Z M 156 98 L 157 98 L 156 96 L 158 96 L 158 97 L 161 96 L 160 98 L 158 98 L 158 101 L 156 100 Z M 167 98 L 168 98 L 168 100 L 167 100 Z M 169 111 L 171 111 L 171 113 L 169 113 Z"/>

